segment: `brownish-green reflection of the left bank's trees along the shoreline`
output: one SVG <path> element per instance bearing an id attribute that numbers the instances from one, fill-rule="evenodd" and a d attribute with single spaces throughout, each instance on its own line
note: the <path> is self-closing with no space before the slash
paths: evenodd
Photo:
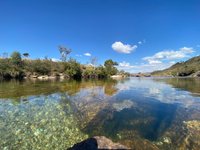
<path id="1" fill-rule="evenodd" d="M 115 80 L 65 80 L 65 81 L 40 81 L 40 80 L 25 80 L 10 82 L 1 82 L 0 97 L 1 98 L 16 98 L 26 97 L 30 95 L 49 95 L 52 93 L 67 93 L 73 96 L 79 93 L 82 89 L 93 90 L 96 92 L 96 87 L 103 90 L 104 94 L 113 95 L 117 92 L 115 88 L 117 81 Z M 98 91 L 97 91 L 98 93 Z M 98 97 L 98 95 L 96 95 Z"/>

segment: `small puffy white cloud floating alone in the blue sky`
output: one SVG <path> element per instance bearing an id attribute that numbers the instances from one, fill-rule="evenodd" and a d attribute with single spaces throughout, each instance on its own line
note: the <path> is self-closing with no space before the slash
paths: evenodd
<path id="1" fill-rule="evenodd" d="M 112 49 L 119 52 L 119 53 L 125 53 L 130 54 L 132 51 L 134 51 L 138 46 L 137 45 L 129 45 L 129 44 L 123 44 L 122 42 L 114 42 L 112 44 Z"/>

